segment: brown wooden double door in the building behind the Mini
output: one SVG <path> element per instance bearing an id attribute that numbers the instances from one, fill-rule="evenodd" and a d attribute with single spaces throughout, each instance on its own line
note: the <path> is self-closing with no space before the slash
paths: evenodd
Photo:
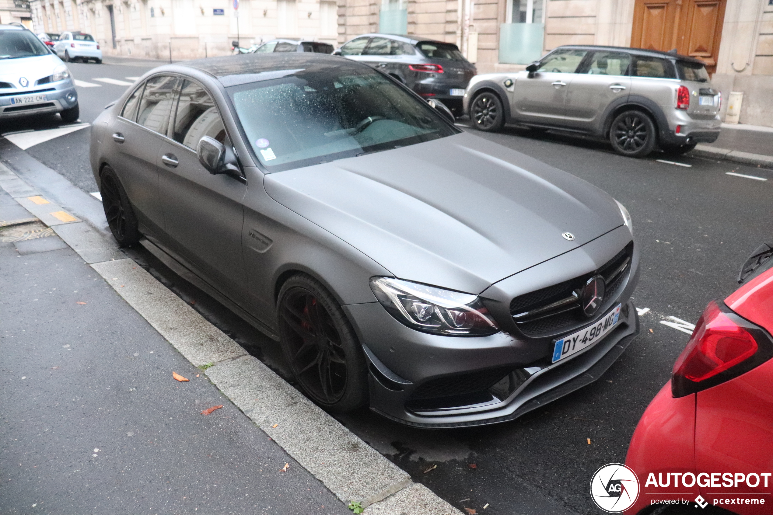
<path id="1" fill-rule="evenodd" d="M 717 69 L 727 0 L 636 0 L 631 46 L 676 49 L 706 63 L 709 73 Z"/>

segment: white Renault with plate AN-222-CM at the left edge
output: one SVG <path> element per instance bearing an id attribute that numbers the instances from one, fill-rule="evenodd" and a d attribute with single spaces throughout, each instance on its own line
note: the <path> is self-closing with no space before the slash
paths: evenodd
<path id="1" fill-rule="evenodd" d="M 0 121 L 33 114 L 80 116 L 70 70 L 21 25 L 0 25 Z"/>

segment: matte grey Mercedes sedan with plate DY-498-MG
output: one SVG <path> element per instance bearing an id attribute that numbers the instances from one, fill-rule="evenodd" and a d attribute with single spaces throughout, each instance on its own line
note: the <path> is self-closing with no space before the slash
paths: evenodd
<path id="1" fill-rule="evenodd" d="M 638 247 L 615 199 L 441 111 L 336 56 L 203 59 L 107 107 L 90 159 L 117 242 L 278 340 L 322 408 L 503 422 L 625 350 Z"/>

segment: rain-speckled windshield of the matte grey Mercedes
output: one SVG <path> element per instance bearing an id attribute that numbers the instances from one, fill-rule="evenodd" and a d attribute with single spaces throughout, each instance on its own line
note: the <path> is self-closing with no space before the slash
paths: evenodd
<path id="1" fill-rule="evenodd" d="M 427 103 L 371 69 L 288 70 L 228 93 L 271 172 L 458 134 Z"/>

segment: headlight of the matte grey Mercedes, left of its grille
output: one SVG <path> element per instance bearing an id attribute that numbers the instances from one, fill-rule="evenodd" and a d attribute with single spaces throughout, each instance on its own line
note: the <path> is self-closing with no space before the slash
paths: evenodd
<path id="1" fill-rule="evenodd" d="M 411 329 L 445 336 L 499 332 L 489 310 L 476 295 L 390 277 L 373 277 L 370 288 L 383 307 Z"/>

